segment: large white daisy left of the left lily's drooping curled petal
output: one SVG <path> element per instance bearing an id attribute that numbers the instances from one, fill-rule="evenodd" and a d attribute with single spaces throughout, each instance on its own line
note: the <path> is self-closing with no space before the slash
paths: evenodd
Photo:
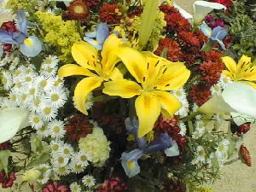
<path id="1" fill-rule="evenodd" d="M 67 95 L 64 89 L 60 87 L 55 87 L 46 95 L 46 99 L 54 108 L 61 108 L 67 101 Z"/>

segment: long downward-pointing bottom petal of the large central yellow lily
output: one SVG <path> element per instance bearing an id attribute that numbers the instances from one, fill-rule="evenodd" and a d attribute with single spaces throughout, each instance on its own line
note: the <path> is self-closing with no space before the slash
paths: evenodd
<path id="1" fill-rule="evenodd" d="M 135 101 L 137 118 L 139 121 L 138 137 L 143 137 L 154 127 L 160 115 L 160 101 L 153 94 L 143 93 Z"/>

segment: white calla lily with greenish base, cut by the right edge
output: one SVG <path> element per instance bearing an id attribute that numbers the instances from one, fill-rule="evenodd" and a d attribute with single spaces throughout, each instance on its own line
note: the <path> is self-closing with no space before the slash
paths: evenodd
<path id="1" fill-rule="evenodd" d="M 213 95 L 198 111 L 201 113 L 241 113 L 256 118 L 256 90 L 242 83 L 229 84 L 220 96 Z"/>

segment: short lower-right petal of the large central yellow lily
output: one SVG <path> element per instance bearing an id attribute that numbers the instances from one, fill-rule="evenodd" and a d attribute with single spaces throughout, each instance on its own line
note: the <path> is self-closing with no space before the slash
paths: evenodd
<path id="1" fill-rule="evenodd" d="M 167 119 L 171 119 L 172 115 L 177 112 L 179 108 L 182 107 L 181 102 L 178 101 L 176 96 L 173 96 L 171 93 L 161 90 L 153 90 L 157 98 L 160 100 L 161 108 L 164 108 Z"/>

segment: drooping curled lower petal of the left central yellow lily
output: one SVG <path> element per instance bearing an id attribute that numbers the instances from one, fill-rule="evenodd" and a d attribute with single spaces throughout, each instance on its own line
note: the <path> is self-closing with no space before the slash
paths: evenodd
<path id="1" fill-rule="evenodd" d="M 102 79 L 98 77 L 84 78 L 76 86 L 74 90 L 74 102 L 80 112 L 88 114 L 85 108 L 85 101 L 88 94 L 102 85 Z"/>

